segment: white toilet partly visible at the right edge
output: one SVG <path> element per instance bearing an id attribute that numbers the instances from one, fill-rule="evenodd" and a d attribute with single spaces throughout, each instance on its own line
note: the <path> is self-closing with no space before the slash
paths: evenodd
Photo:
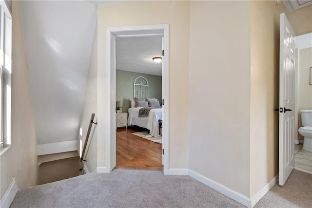
<path id="1" fill-rule="evenodd" d="M 312 110 L 300 110 L 302 127 L 298 132 L 304 137 L 304 151 L 312 152 Z"/>

